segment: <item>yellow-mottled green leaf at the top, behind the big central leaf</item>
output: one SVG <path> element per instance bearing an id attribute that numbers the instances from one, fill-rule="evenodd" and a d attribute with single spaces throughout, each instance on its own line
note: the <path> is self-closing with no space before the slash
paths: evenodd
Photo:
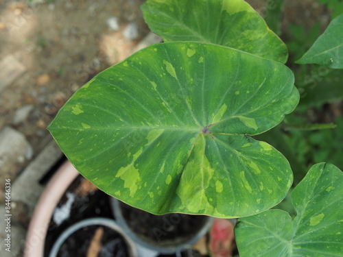
<path id="1" fill-rule="evenodd" d="M 287 61 L 285 44 L 243 0 L 147 0 L 142 10 L 152 32 L 165 42 L 211 42 Z"/>

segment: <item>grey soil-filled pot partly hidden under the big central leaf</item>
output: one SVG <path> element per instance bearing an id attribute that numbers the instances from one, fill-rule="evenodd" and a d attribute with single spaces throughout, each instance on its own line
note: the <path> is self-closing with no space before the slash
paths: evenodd
<path id="1" fill-rule="evenodd" d="M 118 225 L 140 246 L 139 252 L 148 250 L 150 256 L 174 254 L 190 248 L 213 223 L 212 217 L 204 215 L 152 215 L 113 197 L 110 197 L 110 205 Z"/>

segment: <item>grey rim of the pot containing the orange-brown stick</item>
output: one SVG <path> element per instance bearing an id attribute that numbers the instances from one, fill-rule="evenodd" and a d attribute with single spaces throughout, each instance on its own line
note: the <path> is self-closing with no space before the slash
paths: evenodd
<path id="1" fill-rule="evenodd" d="M 123 232 L 123 230 L 120 228 L 119 225 L 113 220 L 113 219 L 108 219 L 108 218 L 102 218 L 102 217 L 95 217 L 95 218 L 89 218 L 89 219 L 84 219 L 82 221 L 79 221 L 77 223 L 74 223 L 71 225 L 67 230 L 64 230 L 60 236 L 58 236 L 57 240 L 55 241 L 53 247 L 51 248 L 51 251 L 49 252 L 49 257 L 56 257 L 58 254 L 58 251 L 64 241 L 73 234 L 73 232 L 76 232 L 80 230 L 80 228 L 84 228 L 87 226 L 91 225 L 102 225 L 106 226 L 107 228 L 111 228 L 112 230 L 115 230 L 120 234 L 120 236 L 123 237 L 124 241 L 126 242 L 126 245 L 128 247 L 128 252 L 129 256 L 135 257 L 137 256 L 137 247 L 134 244 L 134 242 L 130 239 L 129 236 Z"/>

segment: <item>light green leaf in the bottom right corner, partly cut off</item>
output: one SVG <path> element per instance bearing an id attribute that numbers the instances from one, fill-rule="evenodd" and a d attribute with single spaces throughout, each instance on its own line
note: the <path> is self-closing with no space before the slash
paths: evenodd
<path id="1" fill-rule="evenodd" d="M 314 165 L 292 192 L 298 212 L 293 221 L 283 210 L 238 220 L 239 256 L 342 256 L 342 195 L 342 171 L 333 164 Z"/>

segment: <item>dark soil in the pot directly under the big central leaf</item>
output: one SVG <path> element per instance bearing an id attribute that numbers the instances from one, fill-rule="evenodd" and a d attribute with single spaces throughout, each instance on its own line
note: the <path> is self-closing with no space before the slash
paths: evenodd
<path id="1" fill-rule="evenodd" d="M 172 213 L 152 215 L 121 203 L 121 212 L 130 229 L 143 241 L 158 246 L 187 242 L 206 222 L 205 216 Z M 180 237 L 181 236 L 181 237 Z"/>

